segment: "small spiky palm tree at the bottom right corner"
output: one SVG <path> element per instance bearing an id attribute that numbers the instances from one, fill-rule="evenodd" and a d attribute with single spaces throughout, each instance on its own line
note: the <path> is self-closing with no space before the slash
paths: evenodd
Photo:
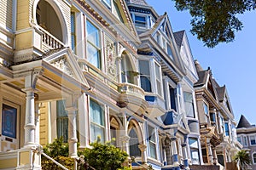
<path id="1" fill-rule="evenodd" d="M 234 161 L 239 162 L 241 170 L 247 169 L 247 166 L 251 165 L 252 161 L 247 150 L 239 150 L 234 156 Z"/>

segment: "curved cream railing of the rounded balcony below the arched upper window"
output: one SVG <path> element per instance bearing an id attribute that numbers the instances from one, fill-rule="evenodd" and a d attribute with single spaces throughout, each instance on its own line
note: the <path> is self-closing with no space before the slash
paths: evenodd
<path id="1" fill-rule="evenodd" d="M 145 99 L 143 88 L 130 83 L 119 83 L 119 93 L 137 96 L 138 98 Z"/>

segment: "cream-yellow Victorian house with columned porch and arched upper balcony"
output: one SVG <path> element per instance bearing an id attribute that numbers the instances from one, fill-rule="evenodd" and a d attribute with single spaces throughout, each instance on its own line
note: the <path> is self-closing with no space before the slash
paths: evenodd
<path id="1" fill-rule="evenodd" d="M 143 162 L 139 42 L 123 0 L 2 0 L 0 169 L 40 169 L 60 136 L 73 158 L 97 135 L 128 152 L 131 131 Z"/>

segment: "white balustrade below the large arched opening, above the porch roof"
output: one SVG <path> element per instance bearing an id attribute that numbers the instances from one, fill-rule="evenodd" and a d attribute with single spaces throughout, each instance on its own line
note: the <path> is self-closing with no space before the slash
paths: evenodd
<path id="1" fill-rule="evenodd" d="M 54 37 L 49 31 L 44 30 L 44 28 L 39 27 L 39 30 L 43 32 L 42 41 L 43 41 L 43 50 L 47 51 L 49 49 L 62 48 L 64 44 Z"/>

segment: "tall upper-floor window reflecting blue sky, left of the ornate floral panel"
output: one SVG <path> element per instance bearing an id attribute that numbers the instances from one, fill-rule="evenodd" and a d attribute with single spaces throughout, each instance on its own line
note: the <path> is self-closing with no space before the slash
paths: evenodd
<path id="1" fill-rule="evenodd" d="M 90 21 L 86 22 L 87 28 L 87 59 L 90 64 L 101 68 L 101 42 L 100 31 Z"/>

